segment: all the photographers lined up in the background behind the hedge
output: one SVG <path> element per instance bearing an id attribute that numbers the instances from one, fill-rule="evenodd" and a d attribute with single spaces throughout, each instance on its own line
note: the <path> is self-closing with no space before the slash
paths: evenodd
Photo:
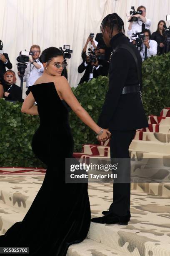
<path id="1" fill-rule="evenodd" d="M 170 46 L 170 28 L 166 27 L 164 20 L 158 22 L 158 27 L 155 32 L 150 32 L 151 20 L 146 18 L 146 8 L 140 5 L 135 11 L 132 6 L 130 10 L 130 17 L 128 18 L 128 39 L 140 51 L 142 60 L 150 56 L 160 55 L 168 52 Z M 87 38 L 85 46 L 82 50 L 82 63 L 78 67 L 78 72 L 84 72 L 79 84 L 88 82 L 98 76 L 107 76 L 109 70 L 109 59 L 112 49 L 105 46 L 101 33 L 97 33 L 95 40 L 94 33 L 90 33 Z M 87 46 L 90 48 L 87 49 Z M 0 41 L 0 98 L 5 100 L 19 100 L 22 101 L 22 85 L 21 87 L 15 84 L 16 76 L 12 69 L 13 65 L 10 62 L 8 54 L 2 51 L 3 43 Z M 60 47 L 62 50 L 62 48 Z M 65 63 L 66 59 L 71 57 L 72 50 L 65 45 L 63 51 Z M 32 45 L 30 52 L 23 51 L 17 58 L 18 61 L 18 76 L 21 84 L 26 82 L 26 95 L 30 92 L 30 86 L 43 73 L 43 65 L 39 60 L 40 46 Z M 30 55 L 31 54 L 31 55 Z M 28 56 L 26 56 L 28 55 Z M 8 69 L 6 71 L 6 68 Z M 67 78 L 66 68 L 62 75 Z"/>

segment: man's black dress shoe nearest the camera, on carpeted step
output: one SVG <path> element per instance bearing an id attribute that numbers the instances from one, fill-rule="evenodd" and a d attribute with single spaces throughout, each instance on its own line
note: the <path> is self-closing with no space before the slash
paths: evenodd
<path id="1" fill-rule="evenodd" d="M 128 221 L 130 220 L 129 216 L 117 216 L 113 214 L 107 214 L 103 217 L 92 218 L 91 221 L 95 223 L 101 224 L 119 224 L 119 225 L 128 225 Z"/>

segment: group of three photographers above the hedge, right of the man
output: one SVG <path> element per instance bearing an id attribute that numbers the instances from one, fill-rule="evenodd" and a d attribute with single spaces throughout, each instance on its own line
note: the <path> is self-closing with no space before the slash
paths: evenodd
<path id="1" fill-rule="evenodd" d="M 151 20 L 146 18 L 145 6 L 140 5 L 137 11 L 132 6 L 128 21 L 128 38 L 138 47 L 143 60 L 150 56 L 160 55 L 169 51 L 169 28 L 167 29 L 164 20 L 160 20 L 157 30 L 151 35 Z"/>

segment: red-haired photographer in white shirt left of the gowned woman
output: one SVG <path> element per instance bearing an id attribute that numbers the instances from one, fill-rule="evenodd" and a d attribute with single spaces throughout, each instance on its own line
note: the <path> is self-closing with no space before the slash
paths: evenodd
<path id="1" fill-rule="evenodd" d="M 42 63 L 39 60 L 40 57 L 40 46 L 32 45 L 30 47 L 30 51 L 34 52 L 34 55 L 30 56 L 30 63 L 27 64 L 27 68 L 25 69 L 25 75 L 23 77 L 23 81 L 26 82 L 26 95 L 30 93 L 30 86 L 32 86 L 35 81 L 42 75 L 44 68 Z M 20 77 L 20 72 L 18 72 L 18 76 Z"/>

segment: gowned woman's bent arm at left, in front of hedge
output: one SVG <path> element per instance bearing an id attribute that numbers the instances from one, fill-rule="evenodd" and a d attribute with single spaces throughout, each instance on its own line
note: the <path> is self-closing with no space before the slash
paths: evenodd
<path id="1" fill-rule="evenodd" d="M 32 92 L 30 92 L 23 102 L 21 112 L 30 114 L 30 115 L 39 115 L 37 106 L 34 105 L 34 102 L 35 102 L 35 99 L 32 95 Z"/>

